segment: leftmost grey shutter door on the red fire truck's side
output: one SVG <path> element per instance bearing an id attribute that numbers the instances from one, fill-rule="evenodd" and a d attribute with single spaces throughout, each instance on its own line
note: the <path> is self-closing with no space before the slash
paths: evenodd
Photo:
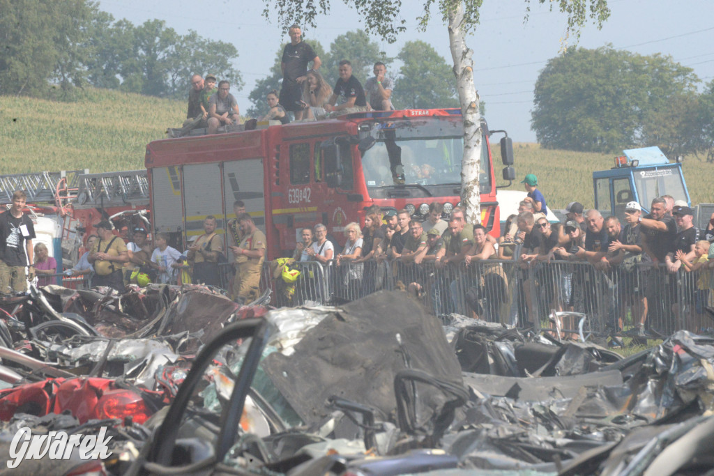
<path id="1" fill-rule="evenodd" d="M 164 233 L 183 229 L 181 169 L 176 166 L 151 169 L 151 192 L 154 229 Z"/>

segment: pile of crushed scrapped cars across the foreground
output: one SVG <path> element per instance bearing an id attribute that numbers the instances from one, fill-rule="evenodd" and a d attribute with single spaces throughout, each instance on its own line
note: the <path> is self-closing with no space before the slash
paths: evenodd
<path id="1" fill-rule="evenodd" d="M 402 292 L 271 310 L 190 285 L 48 286 L 0 309 L 0 451 L 26 474 L 714 471 L 714 340 L 685 331 L 621 358 L 443 326 Z M 23 431 L 46 440 L 19 452 Z M 109 456 L 54 458 L 61 432 Z"/>

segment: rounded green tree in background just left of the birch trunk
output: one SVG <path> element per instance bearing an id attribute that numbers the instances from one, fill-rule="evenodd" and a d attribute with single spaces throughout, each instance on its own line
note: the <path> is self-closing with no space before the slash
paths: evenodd
<path id="1" fill-rule="evenodd" d="M 408 41 L 393 97 L 401 108 L 458 108 L 451 66 L 425 41 Z"/>

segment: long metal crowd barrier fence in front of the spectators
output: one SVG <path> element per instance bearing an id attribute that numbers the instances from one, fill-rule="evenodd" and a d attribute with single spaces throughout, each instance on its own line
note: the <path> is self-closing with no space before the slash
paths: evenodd
<path id="1" fill-rule="evenodd" d="M 458 313 L 495 323 L 555 327 L 555 313 L 588 316 L 585 331 L 607 333 L 644 322 L 650 335 L 714 328 L 710 305 L 711 270 L 670 273 L 665 265 L 638 264 L 607 270 L 585 262 L 553 260 L 530 265 L 514 260 L 480 260 L 469 265 L 435 265 L 370 260 L 362 263 L 295 263 L 295 283 L 263 268 L 261 292 L 270 287 L 275 305 L 339 304 L 377 290 L 418 295 L 440 318 Z M 713 277 L 714 278 L 714 277 Z M 578 323 L 558 322 L 565 330 Z"/>

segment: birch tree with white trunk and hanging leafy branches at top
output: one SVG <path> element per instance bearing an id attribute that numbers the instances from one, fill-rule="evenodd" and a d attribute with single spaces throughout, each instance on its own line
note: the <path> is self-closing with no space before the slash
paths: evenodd
<path id="1" fill-rule="evenodd" d="M 316 26 L 318 15 L 328 14 L 329 0 L 263 0 L 263 16 L 276 16 L 284 26 L 293 23 Z M 538 3 L 555 5 L 567 15 L 566 33 L 578 36 L 580 26 L 593 19 L 601 25 L 610 15 L 607 0 L 538 0 Z M 366 24 L 368 33 L 376 33 L 389 43 L 406 31 L 406 20 L 401 14 L 402 0 L 345 0 Z M 423 14 L 418 18 L 422 29 L 431 19 L 435 0 L 423 1 Z M 463 160 L 461 161 L 461 199 L 466 204 L 468 218 L 476 223 L 481 217 L 478 187 L 479 161 L 481 160 L 481 116 L 479 98 L 473 83 L 473 51 L 466 46 L 466 34 L 476 28 L 483 0 L 439 0 L 438 9 L 448 27 L 449 46 L 456 75 L 456 88 L 463 115 Z M 526 0 L 530 6 L 531 0 Z M 273 8 L 273 5 L 277 9 Z M 411 6 L 411 4 L 410 4 Z M 277 10 L 277 11 L 276 11 Z M 527 10 L 528 11 L 528 7 Z"/>

